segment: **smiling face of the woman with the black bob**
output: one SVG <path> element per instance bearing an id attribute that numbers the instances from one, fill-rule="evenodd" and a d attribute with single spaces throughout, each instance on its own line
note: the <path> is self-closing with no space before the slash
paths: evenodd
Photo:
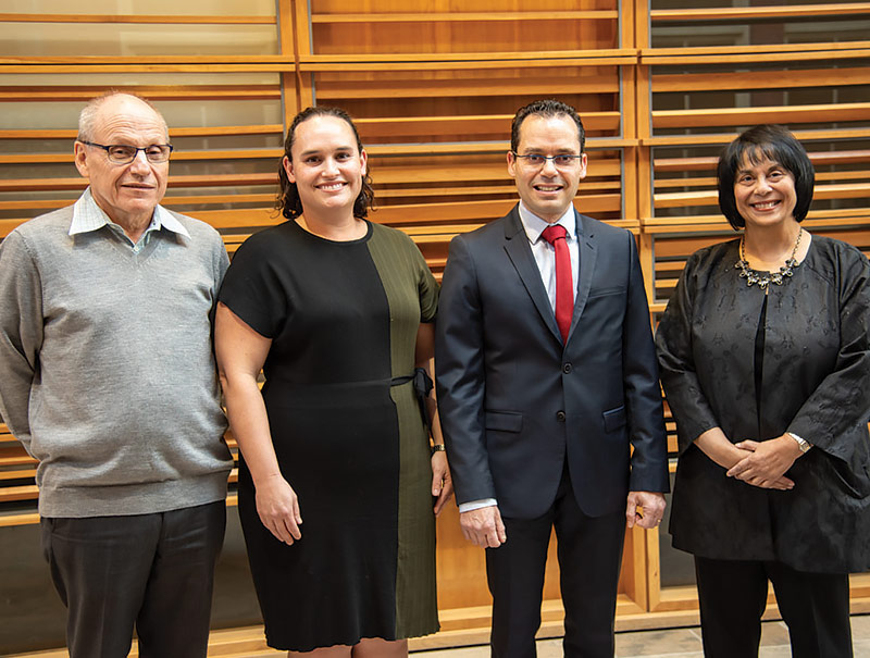
<path id="1" fill-rule="evenodd" d="M 794 222 L 794 174 L 767 158 L 756 164 L 744 158 L 734 177 L 734 200 L 747 228 Z"/>

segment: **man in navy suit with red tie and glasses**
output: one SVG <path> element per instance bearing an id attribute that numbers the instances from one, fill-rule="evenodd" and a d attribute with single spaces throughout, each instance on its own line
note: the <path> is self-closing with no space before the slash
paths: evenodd
<path id="1" fill-rule="evenodd" d="M 612 657 L 625 519 L 655 527 L 664 511 L 664 422 L 637 247 L 574 210 L 584 141 L 564 103 L 517 112 L 507 159 L 520 203 L 453 238 L 442 286 L 439 415 L 462 532 L 486 548 L 498 658 L 536 655 L 554 526 L 564 655 Z"/>

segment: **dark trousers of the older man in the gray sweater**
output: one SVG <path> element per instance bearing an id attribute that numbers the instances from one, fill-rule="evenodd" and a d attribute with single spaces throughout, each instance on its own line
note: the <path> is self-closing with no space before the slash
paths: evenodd
<path id="1" fill-rule="evenodd" d="M 223 500 L 154 514 L 42 519 L 42 551 L 67 607 L 71 658 L 204 657 Z"/>

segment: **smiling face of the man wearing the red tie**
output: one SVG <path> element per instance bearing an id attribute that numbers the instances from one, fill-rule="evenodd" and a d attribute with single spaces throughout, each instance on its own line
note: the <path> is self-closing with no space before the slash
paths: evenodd
<path id="1" fill-rule="evenodd" d="M 530 114 L 520 125 L 517 153 L 581 156 L 577 126 L 564 114 Z M 568 210 L 581 179 L 586 177 L 586 153 L 563 167 L 557 167 L 551 159 L 543 165 L 532 165 L 526 159 L 508 153 L 508 173 L 517 182 L 525 207 L 542 220 L 555 222 Z"/>

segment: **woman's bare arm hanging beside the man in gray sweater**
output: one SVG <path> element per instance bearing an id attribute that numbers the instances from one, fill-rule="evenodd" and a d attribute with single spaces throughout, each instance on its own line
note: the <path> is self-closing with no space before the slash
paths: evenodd
<path id="1" fill-rule="evenodd" d="M 302 536 L 302 517 L 296 493 L 281 473 L 263 396 L 257 385 L 271 347 L 270 338 L 253 331 L 225 305 L 217 305 L 214 349 L 229 425 L 253 479 L 260 521 L 276 538 L 290 545 Z"/>

